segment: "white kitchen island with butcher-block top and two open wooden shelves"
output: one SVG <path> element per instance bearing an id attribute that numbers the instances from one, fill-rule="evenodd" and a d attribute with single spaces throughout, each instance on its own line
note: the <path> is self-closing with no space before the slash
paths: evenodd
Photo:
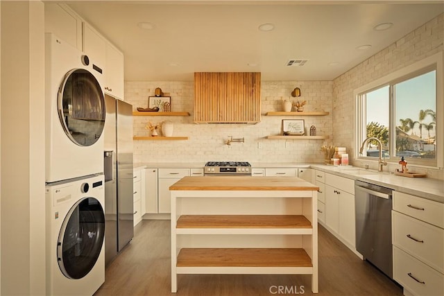
<path id="1" fill-rule="evenodd" d="M 298 177 L 183 177 L 171 192 L 178 274 L 311 275 L 318 293 L 318 187 Z"/>

